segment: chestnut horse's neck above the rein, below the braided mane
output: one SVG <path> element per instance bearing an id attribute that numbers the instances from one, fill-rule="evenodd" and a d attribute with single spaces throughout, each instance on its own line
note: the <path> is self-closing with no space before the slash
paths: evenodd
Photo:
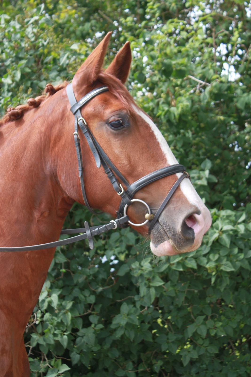
<path id="1" fill-rule="evenodd" d="M 66 97 L 64 93 L 63 96 Z M 72 177 L 70 162 L 76 152 L 68 139 L 73 137 L 68 127 L 69 115 L 60 109 L 67 102 L 60 101 L 61 97 L 62 93 L 56 93 L 0 130 L 0 195 L 4 198 L 0 239 L 4 246 L 58 239 L 74 202 L 69 193 L 76 193 L 77 177 Z"/>

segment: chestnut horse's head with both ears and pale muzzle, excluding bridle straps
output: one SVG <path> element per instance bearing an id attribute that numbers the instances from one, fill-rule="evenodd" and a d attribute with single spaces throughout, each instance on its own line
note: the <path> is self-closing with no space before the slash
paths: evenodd
<path id="1" fill-rule="evenodd" d="M 72 81 L 72 88 L 78 101 L 93 89 L 100 88 L 102 85 L 108 87 L 109 90 L 100 93 L 81 107 L 81 115 L 93 138 L 123 177 L 129 184 L 132 184 L 157 169 L 172 166 L 178 162 L 160 130 L 151 118 L 137 106 L 124 86 L 131 64 L 129 42 L 125 43 L 108 68 L 102 70 L 110 34 L 106 35 L 78 69 Z M 64 94 L 62 95 L 61 92 Z M 61 101 L 64 101 L 65 106 L 62 117 L 65 127 L 72 133 L 74 117 L 70 113 L 65 91 L 60 91 L 56 95 L 63 96 Z M 113 190 L 102 167 L 97 168 L 91 150 L 81 132 L 79 132 L 79 138 L 88 202 L 91 207 L 116 216 L 121 197 Z M 68 146 L 65 149 L 66 160 L 69 159 L 69 156 L 73 156 L 73 141 L 70 143 L 68 140 Z M 70 198 L 84 204 L 78 179 L 76 155 L 72 158 L 69 168 L 71 181 L 65 179 L 64 166 L 61 165 L 58 171 L 59 182 Z M 68 163 L 69 161 L 67 161 Z M 143 200 L 149 205 L 151 212 L 156 213 L 167 193 L 181 175 L 182 173 L 179 172 L 164 176 L 145 185 L 135 193 L 134 199 Z M 121 189 L 126 190 L 125 184 L 120 181 L 119 177 L 117 180 L 121 184 Z M 146 222 L 146 212 L 146 207 L 137 201 L 130 205 L 127 214 L 132 224 L 142 224 Z M 132 227 L 141 234 L 147 234 L 149 224 L 151 224 L 151 220 L 140 227 L 136 225 L 132 225 Z M 202 237 L 210 225 L 210 213 L 187 175 L 176 188 L 168 205 L 164 207 L 158 221 L 152 227 L 151 250 L 158 256 L 196 250 L 201 245 Z"/>

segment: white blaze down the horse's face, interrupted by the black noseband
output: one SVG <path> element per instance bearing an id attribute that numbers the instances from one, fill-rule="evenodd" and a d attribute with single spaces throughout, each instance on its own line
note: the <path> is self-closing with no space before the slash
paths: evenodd
<path id="1" fill-rule="evenodd" d="M 169 145 L 166 142 L 166 139 L 158 129 L 158 127 L 154 124 L 154 122 L 138 107 L 133 105 L 133 109 L 135 112 L 141 116 L 141 118 L 149 124 L 151 127 L 152 132 L 154 133 L 158 143 L 160 144 L 160 148 L 166 157 L 166 163 L 167 165 L 174 165 L 178 164 L 178 161 L 176 160 L 175 156 L 173 155 L 172 151 L 170 150 Z M 178 177 L 181 176 L 182 173 L 176 173 Z M 201 206 L 204 206 L 201 198 L 199 195 L 196 193 L 192 183 L 190 182 L 189 179 L 183 179 L 183 181 L 180 184 L 181 191 L 183 194 L 186 196 L 187 200 L 190 202 L 192 205 L 196 205 L 197 207 L 201 208 Z"/>

